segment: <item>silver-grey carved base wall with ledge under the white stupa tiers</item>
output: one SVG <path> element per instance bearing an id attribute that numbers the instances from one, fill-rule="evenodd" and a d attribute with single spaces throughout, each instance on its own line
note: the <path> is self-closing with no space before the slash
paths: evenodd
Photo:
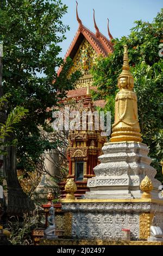
<path id="1" fill-rule="evenodd" d="M 63 203 L 62 210 L 71 212 L 72 239 L 121 240 L 122 228 L 130 229 L 131 241 L 147 240 L 154 212 L 162 228 L 163 202 Z"/>

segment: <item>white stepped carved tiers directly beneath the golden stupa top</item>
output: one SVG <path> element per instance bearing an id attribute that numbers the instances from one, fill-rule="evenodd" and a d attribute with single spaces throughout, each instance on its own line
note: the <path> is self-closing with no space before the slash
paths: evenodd
<path id="1" fill-rule="evenodd" d="M 153 184 L 152 198 L 158 198 L 161 182 L 154 178 L 156 170 L 150 166 L 146 144 L 137 142 L 107 143 L 101 161 L 88 180 L 90 192 L 86 198 L 141 198 L 140 184 L 147 175 Z"/>

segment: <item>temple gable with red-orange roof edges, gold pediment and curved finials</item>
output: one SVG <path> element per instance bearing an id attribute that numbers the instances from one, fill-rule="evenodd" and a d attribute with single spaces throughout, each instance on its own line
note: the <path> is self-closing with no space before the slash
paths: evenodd
<path id="1" fill-rule="evenodd" d="M 102 55 L 103 57 L 108 56 L 109 53 L 113 52 L 113 45 L 111 43 L 112 35 L 109 31 L 109 21 L 108 39 L 99 31 L 97 27 L 95 10 L 93 10 L 93 22 L 96 30 L 95 33 L 86 28 L 83 25 L 82 20 L 79 19 L 78 3 L 76 7 L 76 14 L 79 28 L 65 54 L 65 59 L 69 56 L 73 60 L 73 66 L 69 71 L 69 76 L 76 70 L 80 70 L 82 72 L 83 76 L 77 81 L 76 89 L 70 90 L 67 93 L 68 99 L 75 98 L 77 101 L 79 101 L 85 97 L 88 84 L 90 89 L 95 89 L 95 87 L 92 87 L 93 78 L 90 74 L 90 69 L 93 62 L 95 62 L 96 57 L 99 55 Z M 58 70 L 58 75 L 60 74 L 61 69 L 62 68 Z M 99 100 L 95 102 L 95 105 L 103 107 L 105 103 L 104 101 Z"/>

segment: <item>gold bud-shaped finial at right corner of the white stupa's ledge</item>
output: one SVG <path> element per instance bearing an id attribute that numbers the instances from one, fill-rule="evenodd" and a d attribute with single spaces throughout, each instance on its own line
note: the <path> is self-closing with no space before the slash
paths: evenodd
<path id="1" fill-rule="evenodd" d="M 146 175 L 141 181 L 140 189 L 143 191 L 142 198 L 151 198 L 151 191 L 153 190 L 153 185 L 151 179 Z"/>

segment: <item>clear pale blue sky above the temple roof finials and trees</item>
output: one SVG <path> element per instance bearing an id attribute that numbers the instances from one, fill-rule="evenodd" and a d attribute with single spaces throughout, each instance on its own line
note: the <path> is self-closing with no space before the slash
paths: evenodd
<path id="1" fill-rule="evenodd" d="M 76 1 L 61 0 L 68 7 L 67 14 L 62 18 L 65 25 L 70 26 L 66 40 L 60 44 L 61 57 L 70 46 L 78 29 L 76 20 Z M 156 14 L 163 8 L 163 0 L 78 0 L 78 14 L 85 27 L 95 32 L 93 9 L 99 31 L 108 37 L 107 18 L 109 18 L 110 33 L 114 38 L 130 34 L 135 20 L 152 22 Z"/>

